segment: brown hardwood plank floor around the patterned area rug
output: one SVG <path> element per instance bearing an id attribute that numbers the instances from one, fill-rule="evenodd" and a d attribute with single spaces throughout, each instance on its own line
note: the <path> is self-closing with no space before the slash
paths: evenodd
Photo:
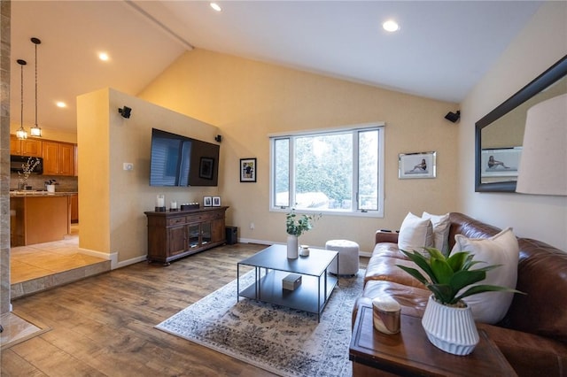
<path id="1" fill-rule="evenodd" d="M 1 374 L 271 376 L 153 328 L 233 281 L 237 262 L 265 247 L 221 246 L 167 267 L 138 263 L 15 300 L 16 314 L 50 330 L 2 350 Z"/>

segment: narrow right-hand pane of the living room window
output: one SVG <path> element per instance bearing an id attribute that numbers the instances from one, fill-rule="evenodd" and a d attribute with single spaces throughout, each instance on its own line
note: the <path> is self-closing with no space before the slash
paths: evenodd
<path id="1" fill-rule="evenodd" d="M 359 133 L 358 209 L 378 209 L 378 131 Z"/>

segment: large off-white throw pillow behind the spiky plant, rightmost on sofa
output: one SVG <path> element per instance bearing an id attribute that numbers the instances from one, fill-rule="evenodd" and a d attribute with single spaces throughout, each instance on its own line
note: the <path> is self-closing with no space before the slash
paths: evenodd
<path id="1" fill-rule="evenodd" d="M 464 235 L 454 236 L 454 248 L 451 254 L 458 251 L 470 251 L 473 260 L 480 260 L 472 269 L 485 265 L 501 265 L 486 273 L 485 281 L 477 284 L 490 284 L 516 289 L 517 261 L 519 248 L 512 228 L 502 230 L 498 235 L 484 239 L 470 239 Z M 513 292 L 484 292 L 463 299 L 470 305 L 475 320 L 485 323 L 497 323 L 504 318 L 514 298 Z"/>

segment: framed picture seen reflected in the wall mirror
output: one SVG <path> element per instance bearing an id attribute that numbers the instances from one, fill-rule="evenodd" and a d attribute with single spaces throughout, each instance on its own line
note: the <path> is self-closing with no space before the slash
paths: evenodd
<path id="1" fill-rule="evenodd" d="M 485 149 L 480 153 L 481 177 L 517 177 L 522 147 Z"/>

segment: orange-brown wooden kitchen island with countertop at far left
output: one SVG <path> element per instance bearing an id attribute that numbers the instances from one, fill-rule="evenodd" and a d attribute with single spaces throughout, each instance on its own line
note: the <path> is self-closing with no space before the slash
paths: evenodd
<path id="1" fill-rule="evenodd" d="M 12 191 L 10 243 L 12 247 L 62 240 L 71 233 L 74 192 Z"/>

